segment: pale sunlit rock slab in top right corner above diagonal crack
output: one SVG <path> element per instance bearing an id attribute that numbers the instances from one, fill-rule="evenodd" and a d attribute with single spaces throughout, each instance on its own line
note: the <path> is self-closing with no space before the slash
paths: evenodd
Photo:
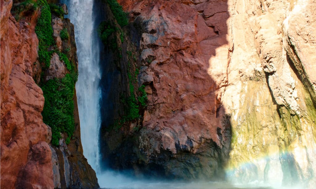
<path id="1" fill-rule="evenodd" d="M 316 1 L 297 1 L 283 22 L 283 46 L 316 102 Z"/>

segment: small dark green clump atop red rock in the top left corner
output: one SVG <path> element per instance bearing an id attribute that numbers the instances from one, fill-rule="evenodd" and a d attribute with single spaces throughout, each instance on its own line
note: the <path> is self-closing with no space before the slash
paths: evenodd
<path id="1" fill-rule="evenodd" d="M 34 0 L 26 0 L 13 5 L 11 12 L 15 15 L 15 20 L 19 21 L 21 14 L 31 14 L 38 8 Z"/>

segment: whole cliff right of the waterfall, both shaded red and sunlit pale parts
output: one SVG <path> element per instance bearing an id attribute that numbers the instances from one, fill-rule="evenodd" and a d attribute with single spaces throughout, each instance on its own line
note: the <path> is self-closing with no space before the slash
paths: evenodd
<path id="1" fill-rule="evenodd" d="M 105 132 L 112 167 L 314 186 L 315 1 L 118 2 L 140 23 L 148 101 L 142 119 Z"/>

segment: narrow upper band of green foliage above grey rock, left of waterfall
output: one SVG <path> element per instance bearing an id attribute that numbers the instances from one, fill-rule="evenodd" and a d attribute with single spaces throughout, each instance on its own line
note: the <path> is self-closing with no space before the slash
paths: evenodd
<path id="1" fill-rule="evenodd" d="M 44 69 L 50 65 L 52 51 L 48 51 L 48 48 L 55 44 L 53 35 L 53 29 L 51 25 L 52 14 L 50 8 L 45 0 L 38 0 L 38 4 L 42 6 L 41 15 L 37 20 L 35 27 L 35 33 L 39 39 L 39 60 L 44 64 Z"/>

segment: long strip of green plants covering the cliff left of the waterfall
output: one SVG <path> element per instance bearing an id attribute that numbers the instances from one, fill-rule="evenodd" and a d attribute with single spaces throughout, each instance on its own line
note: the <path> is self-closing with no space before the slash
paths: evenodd
<path id="1" fill-rule="evenodd" d="M 52 128 L 53 145 L 59 145 L 60 133 L 62 132 L 67 133 L 68 136 L 65 141 L 66 144 L 69 144 L 75 130 L 73 97 L 78 74 L 75 65 L 69 61 L 67 55 L 56 48 L 51 26 L 51 10 L 59 17 L 63 17 L 64 11 L 57 5 L 48 5 L 46 0 L 38 0 L 37 4 L 41 6 L 41 16 L 38 18 L 35 32 L 39 39 L 38 54 L 42 70 L 45 71 L 50 66 L 51 55 L 56 52 L 70 72 L 63 78 L 54 78 L 47 82 L 44 82 L 42 78 L 39 85 L 45 98 L 42 112 L 43 121 Z M 67 30 L 63 29 L 61 38 L 68 37 Z M 41 75 L 43 76 L 44 72 Z"/>

